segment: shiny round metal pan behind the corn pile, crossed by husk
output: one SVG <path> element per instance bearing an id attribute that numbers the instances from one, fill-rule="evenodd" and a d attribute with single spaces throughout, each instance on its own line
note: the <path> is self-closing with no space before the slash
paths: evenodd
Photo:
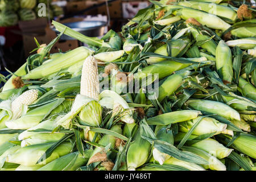
<path id="1" fill-rule="evenodd" d="M 80 32 L 83 35 L 89 37 L 98 37 L 104 35 L 104 30 L 107 22 L 102 21 L 82 21 L 82 22 L 72 22 L 63 23 L 65 26 L 72 28 L 73 30 Z M 54 26 L 51 27 L 53 31 L 59 33 Z M 60 40 L 75 40 L 67 35 L 62 35 Z"/>

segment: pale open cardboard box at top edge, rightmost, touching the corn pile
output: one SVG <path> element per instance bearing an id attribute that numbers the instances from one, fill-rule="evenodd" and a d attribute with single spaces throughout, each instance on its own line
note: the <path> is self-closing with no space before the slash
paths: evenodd
<path id="1" fill-rule="evenodd" d="M 123 18 L 133 18 L 139 10 L 146 8 L 148 5 L 149 3 L 147 1 L 123 1 Z"/>

